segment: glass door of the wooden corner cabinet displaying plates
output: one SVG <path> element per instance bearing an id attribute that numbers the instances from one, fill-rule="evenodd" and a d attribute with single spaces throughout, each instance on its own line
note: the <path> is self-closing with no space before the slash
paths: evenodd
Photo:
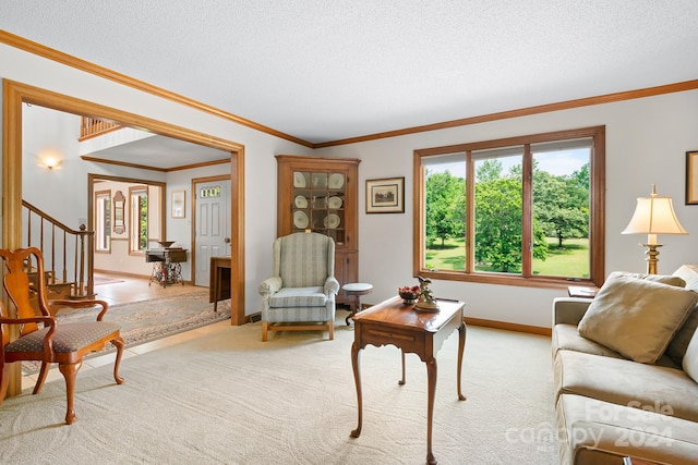
<path id="1" fill-rule="evenodd" d="M 293 232 L 311 230 L 345 242 L 345 173 L 293 172 Z"/>

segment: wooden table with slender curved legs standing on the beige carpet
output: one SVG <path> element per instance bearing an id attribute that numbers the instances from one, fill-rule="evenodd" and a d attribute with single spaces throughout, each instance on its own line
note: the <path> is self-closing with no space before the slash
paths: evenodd
<path id="1" fill-rule="evenodd" d="M 460 390 L 462 352 L 466 346 L 466 323 L 464 321 L 466 304 L 446 299 L 437 299 L 437 302 L 438 311 L 422 311 L 416 310 L 413 305 L 404 304 L 400 297 L 393 297 L 354 315 L 354 340 L 351 345 L 351 366 L 359 403 L 359 425 L 357 429 L 351 431 L 352 438 L 358 438 L 361 435 L 363 419 L 359 351 L 368 344 L 373 344 L 376 347 L 392 344 L 399 347 L 402 355 L 402 379 L 398 381 L 400 386 L 406 382 L 405 353 L 417 354 L 426 364 L 426 462 L 432 465 L 436 464 L 436 458 L 432 453 L 432 420 L 434 393 L 436 392 L 436 353 L 455 330 L 458 330 L 459 338 L 458 400 L 466 400 Z"/>

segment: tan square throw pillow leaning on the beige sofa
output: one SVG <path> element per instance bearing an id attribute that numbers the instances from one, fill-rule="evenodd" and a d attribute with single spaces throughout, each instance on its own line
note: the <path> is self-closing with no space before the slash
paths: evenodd
<path id="1" fill-rule="evenodd" d="M 610 277 L 579 322 L 579 334 L 624 357 L 655 363 L 684 323 L 698 293 L 629 276 Z"/>

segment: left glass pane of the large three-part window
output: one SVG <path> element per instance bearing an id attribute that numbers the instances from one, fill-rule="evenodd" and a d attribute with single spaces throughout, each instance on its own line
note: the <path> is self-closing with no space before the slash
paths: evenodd
<path id="1" fill-rule="evenodd" d="M 422 158 L 425 179 L 424 268 L 466 269 L 466 155 Z"/>

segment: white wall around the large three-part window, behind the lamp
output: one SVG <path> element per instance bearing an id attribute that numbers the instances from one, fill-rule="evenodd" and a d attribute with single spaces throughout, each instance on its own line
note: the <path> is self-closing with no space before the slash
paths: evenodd
<path id="1" fill-rule="evenodd" d="M 317 155 L 356 157 L 359 169 L 359 280 L 374 284 L 373 303 L 416 282 L 412 269 L 412 151 L 477 140 L 550 131 L 606 126 L 606 274 L 613 270 L 645 272 L 646 237 L 621 235 L 635 208 L 655 183 L 659 195 L 673 197 L 689 235 L 660 236 L 659 272 L 698 264 L 698 206 L 684 205 L 685 152 L 698 149 L 698 90 L 606 103 L 510 120 L 461 126 L 316 150 Z M 404 215 L 365 215 L 366 179 L 405 176 Z M 550 327 L 551 301 L 566 293 L 518 286 L 435 281 L 436 295 L 467 303 L 473 318 Z"/>

